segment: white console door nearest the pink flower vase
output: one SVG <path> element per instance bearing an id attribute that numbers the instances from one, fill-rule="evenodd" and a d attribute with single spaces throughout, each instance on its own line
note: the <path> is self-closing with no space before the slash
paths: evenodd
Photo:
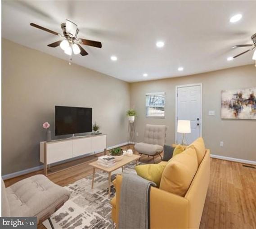
<path id="1" fill-rule="evenodd" d="M 47 164 L 60 162 L 72 157 L 72 141 L 49 143 L 47 148 Z"/>

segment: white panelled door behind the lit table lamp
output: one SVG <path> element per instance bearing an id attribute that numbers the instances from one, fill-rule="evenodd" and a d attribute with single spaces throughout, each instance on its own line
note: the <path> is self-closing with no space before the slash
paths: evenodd
<path id="1" fill-rule="evenodd" d="M 202 85 L 184 85 L 177 87 L 176 100 L 176 143 L 182 142 L 182 134 L 177 133 L 178 120 L 190 120 L 191 133 L 185 134 L 187 144 L 201 136 L 201 87 Z"/>

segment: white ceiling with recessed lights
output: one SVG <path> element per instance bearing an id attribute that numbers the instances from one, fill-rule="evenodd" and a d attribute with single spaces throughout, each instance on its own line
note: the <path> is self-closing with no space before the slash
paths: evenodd
<path id="1" fill-rule="evenodd" d="M 242 20 L 230 23 L 237 13 Z M 252 43 L 256 1 L 2 1 L 4 38 L 68 61 L 59 47 L 47 47 L 58 36 L 29 25 L 61 33 L 65 19 L 78 25 L 78 37 L 103 45 L 83 46 L 89 55 L 73 56 L 73 63 L 128 82 L 253 63 L 252 52 L 226 59 L 247 49 L 231 49 L 233 45 Z M 162 49 L 157 40 L 165 42 Z M 111 61 L 111 55 L 118 60 Z M 177 70 L 180 66 L 183 72 Z"/>

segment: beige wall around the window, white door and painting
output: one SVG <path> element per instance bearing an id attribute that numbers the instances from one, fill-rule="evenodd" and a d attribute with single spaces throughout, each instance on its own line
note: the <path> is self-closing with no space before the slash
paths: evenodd
<path id="1" fill-rule="evenodd" d="M 130 107 L 138 112 L 136 141 L 143 140 L 144 126 L 165 124 L 166 143 L 175 142 L 175 86 L 202 83 L 202 136 L 212 154 L 256 161 L 256 120 L 220 118 L 220 91 L 256 86 L 256 67 L 247 65 L 203 74 L 130 84 Z M 145 94 L 166 92 L 165 119 L 146 118 Z M 215 116 L 208 116 L 215 110 Z M 224 141 L 224 147 L 220 147 Z"/>

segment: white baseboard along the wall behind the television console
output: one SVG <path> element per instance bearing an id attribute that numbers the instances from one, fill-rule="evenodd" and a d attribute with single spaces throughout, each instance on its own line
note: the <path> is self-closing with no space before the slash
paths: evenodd
<path id="1" fill-rule="evenodd" d="M 124 146 L 124 145 L 127 145 L 127 144 L 128 144 L 128 142 L 124 142 L 124 143 L 118 144 L 118 145 L 113 145 L 113 146 L 107 147 L 107 150 L 117 148 L 117 147 L 121 147 L 121 146 Z M 95 152 L 95 153 L 101 153 L 101 152 L 102 151 Z M 90 155 L 93 155 L 93 154 L 94 153 L 89 153 L 89 154 L 86 155 L 86 157 L 88 157 Z M 62 163 L 68 162 L 68 161 L 76 160 L 76 159 L 81 158 L 81 157 L 85 157 L 85 156 L 80 156 L 80 157 L 64 160 L 64 161 L 57 162 L 57 163 L 54 163 L 54 164 L 51 164 L 51 165 L 54 166 L 54 165 L 62 164 Z M 40 165 L 40 166 L 32 167 L 32 168 L 29 168 L 29 169 L 21 170 L 21 171 L 18 171 L 18 172 L 9 173 L 9 174 L 3 175 L 2 179 L 7 180 L 7 179 L 10 179 L 10 178 L 13 178 L 13 177 L 16 177 L 16 176 L 20 176 L 20 175 L 24 175 L 24 174 L 27 174 L 27 173 L 38 171 L 38 170 L 41 170 L 43 168 L 44 168 L 44 166 Z"/>

